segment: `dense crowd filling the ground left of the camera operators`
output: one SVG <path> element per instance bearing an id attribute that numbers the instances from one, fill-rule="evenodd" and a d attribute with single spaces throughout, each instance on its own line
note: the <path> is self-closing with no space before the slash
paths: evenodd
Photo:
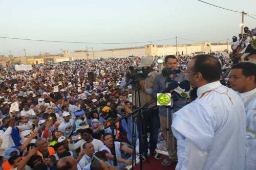
<path id="1" fill-rule="evenodd" d="M 104 127 L 132 112 L 132 90 L 126 75 L 129 67 L 139 62 L 138 57 L 127 57 L 38 65 L 29 71 L 3 68 L 3 169 L 56 169 L 65 156 L 72 156 L 78 169 L 90 169 L 97 166 L 91 164 L 94 153 L 113 165 L 112 131 Z M 158 147 L 166 150 L 161 134 L 157 132 Z M 116 123 L 118 167 L 131 164 L 132 135 L 130 117 Z M 136 140 L 137 129 L 135 135 Z"/>

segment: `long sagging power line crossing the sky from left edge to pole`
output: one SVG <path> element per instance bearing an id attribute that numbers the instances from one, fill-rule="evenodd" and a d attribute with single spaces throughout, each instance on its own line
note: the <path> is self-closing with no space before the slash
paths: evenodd
<path id="1" fill-rule="evenodd" d="M 135 44 L 135 43 L 147 43 L 147 42 L 156 42 L 156 41 L 165 41 L 165 40 L 175 39 L 175 37 L 173 37 L 173 38 L 166 38 L 166 39 L 153 40 L 153 41 L 110 43 L 110 42 L 55 41 L 55 40 L 40 40 L 40 39 L 13 38 L 13 37 L 0 37 L 0 38 L 4 38 L 4 39 L 16 39 L 16 40 L 28 40 L 28 41 L 42 41 L 42 42 L 80 43 L 80 44 Z"/>

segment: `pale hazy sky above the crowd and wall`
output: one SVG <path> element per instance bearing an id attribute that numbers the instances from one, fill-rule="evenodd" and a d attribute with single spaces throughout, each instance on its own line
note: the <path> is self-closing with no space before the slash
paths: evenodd
<path id="1" fill-rule="evenodd" d="M 256 14 L 256 1 L 205 0 L 225 8 Z M 199 41 L 231 38 L 241 32 L 241 14 L 196 0 L 59 1 L 0 0 L 0 36 L 57 41 L 137 42 L 183 37 Z M 256 17 L 256 16 L 254 16 Z M 256 20 L 245 16 L 245 25 Z M 178 39 L 178 44 L 196 43 Z M 0 38 L 0 55 L 28 55 L 63 50 L 94 50 L 140 44 L 72 44 Z M 155 44 L 175 44 L 175 39 Z"/>

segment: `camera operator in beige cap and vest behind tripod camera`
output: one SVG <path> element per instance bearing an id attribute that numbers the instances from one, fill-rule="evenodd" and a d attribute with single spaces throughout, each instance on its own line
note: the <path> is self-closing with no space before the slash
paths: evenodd
<path id="1" fill-rule="evenodd" d="M 152 90 L 153 90 L 153 83 L 155 81 L 156 76 L 158 73 L 153 70 L 153 59 L 152 57 L 142 57 L 140 61 L 140 65 L 138 68 L 143 69 L 143 73 L 146 75 L 145 80 L 139 81 L 139 88 L 140 88 L 140 100 L 141 106 L 150 102 L 153 99 Z M 133 95 L 133 105 L 139 105 L 138 93 L 136 93 L 136 100 L 135 95 Z M 143 135 L 147 135 L 147 132 L 150 133 L 150 154 L 156 158 L 161 159 L 161 156 L 156 153 L 156 144 L 158 138 L 158 130 L 160 128 L 160 120 L 158 115 L 158 108 L 155 107 L 156 103 L 153 103 L 147 107 L 147 110 L 143 113 Z M 144 146 L 144 154 L 147 154 L 147 137 L 143 137 L 143 146 Z"/>

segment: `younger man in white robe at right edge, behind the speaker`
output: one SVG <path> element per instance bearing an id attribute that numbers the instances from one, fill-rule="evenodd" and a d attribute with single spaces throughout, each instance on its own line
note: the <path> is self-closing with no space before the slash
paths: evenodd
<path id="1" fill-rule="evenodd" d="M 256 169 L 256 64 L 232 66 L 230 85 L 239 92 L 246 111 L 245 169 Z"/>

